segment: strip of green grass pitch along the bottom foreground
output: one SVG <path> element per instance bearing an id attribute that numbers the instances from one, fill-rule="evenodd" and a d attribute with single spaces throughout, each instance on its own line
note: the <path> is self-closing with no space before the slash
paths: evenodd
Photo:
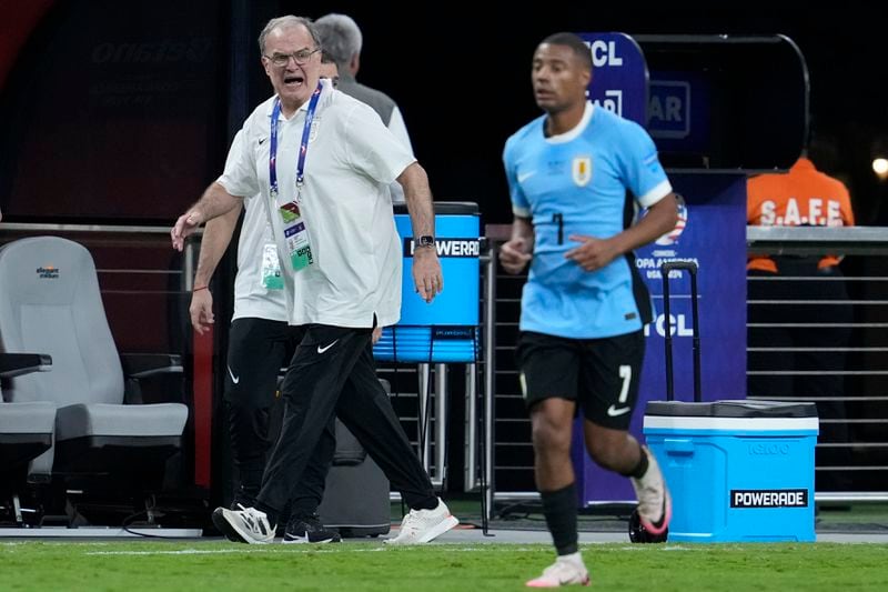
<path id="1" fill-rule="evenodd" d="M 885 591 L 881 544 L 585 544 L 592 584 L 638 591 Z M 553 561 L 544 544 L 219 541 L 0 542 L 0 590 L 522 590 Z"/>

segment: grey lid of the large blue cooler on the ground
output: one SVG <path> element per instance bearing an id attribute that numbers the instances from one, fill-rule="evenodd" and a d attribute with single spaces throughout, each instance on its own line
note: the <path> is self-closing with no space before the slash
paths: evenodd
<path id="1" fill-rule="evenodd" d="M 645 415 L 683 418 L 816 418 L 817 405 L 807 402 L 728 400 L 706 403 L 648 401 Z"/>

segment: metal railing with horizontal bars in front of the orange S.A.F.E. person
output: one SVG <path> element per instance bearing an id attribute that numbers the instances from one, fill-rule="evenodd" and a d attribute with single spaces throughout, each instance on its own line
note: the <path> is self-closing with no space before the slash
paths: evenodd
<path id="1" fill-rule="evenodd" d="M 788 257 L 790 262 L 795 257 L 848 255 L 841 264 L 844 277 L 825 274 L 813 279 L 790 272 L 749 278 L 750 289 L 751 282 L 788 282 L 784 287 L 771 285 L 798 294 L 793 300 L 748 299 L 750 314 L 771 310 L 779 315 L 787 308 L 800 311 L 814 307 L 818 313 L 804 314 L 800 322 L 793 314 L 749 322 L 750 331 L 770 332 L 775 340 L 747 349 L 747 378 L 756 383 L 764 379 L 774 384 L 795 384 L 787 389 L 795 392 L 750 392 L 751 399 L 806 398 L 817 403 L 817 501 L 888 500 L 888 267 L 881 259 L 888 254 L 888 228 L 749 227 L 747 252 Z M 827 282 L 844 283 L 847 298 L 818 298 L 824 290 L 834 288 Z M 803 339 L 779 342 L 776 338 L 787 331 L 801 334 Z M 833 334 L 844 337 L 833 339 Z M 808 341 L 805 335 L 813 338 Z M 807 362 L 794 364 L 794 359 Z M 776 365 L 775 360 L 788 360 L 788 367 Z M 828 391 L 834 392 L 825 395 L 826 389 L 818 383 L 831 383 Z M 801 387 L 800 391 L 799 384 L 814 387 L 807 391 Z"/>

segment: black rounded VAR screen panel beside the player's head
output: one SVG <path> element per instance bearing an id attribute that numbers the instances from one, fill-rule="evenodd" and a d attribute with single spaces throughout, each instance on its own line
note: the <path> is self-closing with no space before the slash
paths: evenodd
<path id="1" fill-rule="evenodd" d="M 633 36 L 666 168 L 788 169 L 809 126 L 808 68 L 785 36 Z"/>

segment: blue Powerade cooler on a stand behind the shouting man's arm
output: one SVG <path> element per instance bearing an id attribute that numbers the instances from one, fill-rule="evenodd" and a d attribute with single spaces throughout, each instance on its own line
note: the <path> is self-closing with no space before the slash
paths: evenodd
<path id="1" fill-rule="evenodd" d="M 413 229 L 405 205 L 395 205 L 395 224 L 404 253 L 401 321 L 384 328 L 373 348 L 385 362 L 466 362 L 478 352 L 477 203 L 435 202 L 435 242 L 444 291 L 431 304 L 413 287 Z"/>

